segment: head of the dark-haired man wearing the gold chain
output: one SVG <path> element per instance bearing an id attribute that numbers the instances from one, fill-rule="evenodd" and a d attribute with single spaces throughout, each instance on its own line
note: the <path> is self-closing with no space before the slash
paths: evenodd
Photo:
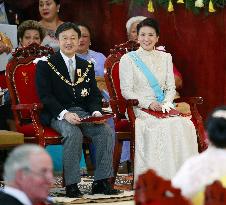
<path id="1" fill-rule="evenodd" d="M 69 58 L 73 57 L 78 49 L 79 38 L 81 37 L 78 26 L 71 22 L 65 22 L 58 26 L 55 35 L 59 41 L 61 52 Z"/>

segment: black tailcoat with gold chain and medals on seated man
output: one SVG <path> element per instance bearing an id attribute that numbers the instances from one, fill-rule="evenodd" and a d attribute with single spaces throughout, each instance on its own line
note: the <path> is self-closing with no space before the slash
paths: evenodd
<path id="1" fill-rule="evenodd" d="M 65 82 L 65 80 L 71 81 L 67 66 L 59 51 L 49 58 L 49 62 L 55 67 L 56 72 L 59 72 L 60 76 L 54 72 L 46 61 L 39 61 L 37 64 L 36 85 L 40 100 L 44 104 L 41 117 L 44 124 L 48 125 L 51 118 L 57 118 L 64 109 L 70 107 L 81 107 L 90 114 L 94 111 L 101 112 L 102 98 L 97 88 L 93 64 L 77 56 L 75 56 L 75 59 L 74 82 L 79 79 L 78 73 L 81 73 L 81 77 L 88 70 L 84 80 L 75 86 L 68 85 Z"/>

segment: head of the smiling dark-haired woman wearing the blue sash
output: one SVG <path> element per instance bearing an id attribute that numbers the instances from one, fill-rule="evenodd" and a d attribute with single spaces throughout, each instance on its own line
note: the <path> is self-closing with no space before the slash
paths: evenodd
<path id="1" fill-rule="evenodd" d="M 137 25 L 138 43 L 146 51 L 152 51 L 159 39 L 159 24 L 153 18 L 146 18 Z"/>

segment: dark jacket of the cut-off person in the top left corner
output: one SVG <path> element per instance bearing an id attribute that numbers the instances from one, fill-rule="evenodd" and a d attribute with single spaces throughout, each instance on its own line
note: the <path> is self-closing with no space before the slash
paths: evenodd
<path id="1" fill-rule="evenodd" d="M 4 5 L 9 24 L 19 25 L 23 21 L 22 13 L 13 8 L 13 6 L 6 1 Z"/>

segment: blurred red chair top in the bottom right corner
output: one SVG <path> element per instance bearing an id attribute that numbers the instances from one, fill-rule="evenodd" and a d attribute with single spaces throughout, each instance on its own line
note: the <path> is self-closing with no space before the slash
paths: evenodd
<path id="1" fill-rule="evenodd" d="M 220 181 L 214 181 L 208 185 L 205 190 L 204 205 L 225 205 L 226 204 L 226 188 Z"/>

